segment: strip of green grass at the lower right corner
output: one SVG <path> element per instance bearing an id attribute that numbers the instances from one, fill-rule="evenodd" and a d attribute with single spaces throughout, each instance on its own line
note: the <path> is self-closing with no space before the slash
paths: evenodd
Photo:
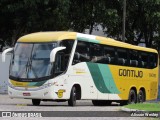
<path id="1" fill-rule="evenodd" d="M 124 107 L 144 111 L 160 111 L 160 103 L 137 103 L 129 104 Z"/>

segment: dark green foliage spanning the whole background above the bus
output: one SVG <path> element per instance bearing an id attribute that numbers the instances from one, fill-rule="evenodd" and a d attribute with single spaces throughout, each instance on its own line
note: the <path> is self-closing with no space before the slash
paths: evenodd
<path id="1" fill-rule="evenodd" d="M 0 44 L 38 31 L 73 30 L 122 38 L 123 0 L 1 0 Z M 98 29 L 97 29 L 98 30 Z M 127 0 L 126 42 L 160 46 L 160 0 Z"/>

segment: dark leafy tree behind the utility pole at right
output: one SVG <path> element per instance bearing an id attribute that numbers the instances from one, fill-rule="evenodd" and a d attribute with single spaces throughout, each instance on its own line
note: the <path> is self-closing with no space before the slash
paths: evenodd
<path id="1" fill-rule="evenodd" d="M 122 34 L 123 1 L 113 0 L 109 11 L 102 21 L 107 35 L 120 39 Z M 109 21 L 106 21 L 111 17 Z M 108 19 L 107 19 L 108 20 Z M 126 41 L 131 44 L 144 41 L 147 47 L 157 45 L 160 26 L 159 0 L 128 0 L 126 13 Z M 154 43 L 154 44 L 153 44 Z"/>

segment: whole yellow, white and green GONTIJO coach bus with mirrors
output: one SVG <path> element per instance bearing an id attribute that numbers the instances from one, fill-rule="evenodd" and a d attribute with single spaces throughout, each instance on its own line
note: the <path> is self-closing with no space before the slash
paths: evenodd
<path id="1" fill-rule="evenodd" d="M 158 52 L 77 32 L 37 32 L 19 38 L 12 53 L 8 95 L 41 101 L 92 100 L 95 106 L 155 100 Z"/>

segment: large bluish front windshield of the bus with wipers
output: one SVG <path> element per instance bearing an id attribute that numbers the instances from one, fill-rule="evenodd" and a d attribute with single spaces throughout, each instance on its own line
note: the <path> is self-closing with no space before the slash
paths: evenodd
<path id="1" fill-rule="evenodd" d="M 41 78 L 51 75 L 50 52 L 57 43 L 17 43 L 11 61 L 10 76 Z"/>

